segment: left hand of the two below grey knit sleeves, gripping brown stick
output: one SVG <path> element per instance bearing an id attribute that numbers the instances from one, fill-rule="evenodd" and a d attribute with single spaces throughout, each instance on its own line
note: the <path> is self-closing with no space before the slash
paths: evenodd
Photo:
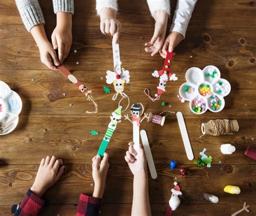
<path id="1" fill-rule="evenodd" d="M 56 66 L 59 66 L 59 60 L 56 51 L 53 50 L 51 43 L 48 40 L 38 44 L 41 62 L 48 66 L 49 69 L 57 71 Z"/>

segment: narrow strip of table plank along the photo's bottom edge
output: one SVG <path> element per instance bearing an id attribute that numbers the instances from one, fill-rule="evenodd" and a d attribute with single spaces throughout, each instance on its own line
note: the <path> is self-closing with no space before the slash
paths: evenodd
<path id="1" fill-rule="evenodd" d="M 250 204 L 251 212 L 242 212 L 240 216 L 254 216 L 255 215 L 255 204 Z M 241 205 L 241 207 L 240 207 Z M 237 212 L 240 208 L 242 208 L 243 203 L 235 204 L 180 204 L 179 208 L 173 213 L 173 215 L 179 216 L 198 216 L 201 213 L 206 213 L 207 216 L 215 216 L 215 215 L 231 215 L 234 212 Z M 163 216 L 167 204 L 152 204 L 151 212 L 153 216 Z M 111 215 L 111 216 L 130 216 L 131 215 L 131 204 L 103 204 L 100 210 L 100 215 Z M 48 205 L 43 209 L 43 215 L 48 216 L 70 216 L 75 215 L 77 211 L 76 205 Z M 10 214 L 10 206 L 1 206 L 0 215 L 4 216 L 12 216 Z"/>

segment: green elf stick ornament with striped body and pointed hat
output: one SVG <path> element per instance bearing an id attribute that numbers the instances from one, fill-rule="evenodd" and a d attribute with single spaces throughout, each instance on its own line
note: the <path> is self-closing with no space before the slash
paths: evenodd
<path id="1" fill-rule="evenodd" d="M 109 123 L 109 126 L 107 126 L 107 130 L 102 140 L 102 144 L 100 144 L 99 150 L 97 152 L 97 155 L 99 154 L 101 157 L 103 157 L 103 154 L 106 151 L 107 145 L 109 144 L 114 130 L 116 130 L 117 124 L 121 122 L 121 110 L 122 106 L 119 106 L 114 112 L 112 112 L 112 116 L 110 116 L 111 121 Z"/>

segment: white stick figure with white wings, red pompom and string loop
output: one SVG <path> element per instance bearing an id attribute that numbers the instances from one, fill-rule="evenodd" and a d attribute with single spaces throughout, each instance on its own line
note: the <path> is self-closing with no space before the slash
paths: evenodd
<path id="1" fill-rule="evenodd" d="M 127 98 L 128 105 L 122 111 L 122 112 L 124 112 L 128 109 L 128 107 L 130 105 L 129 97 L 126 95 L 126 93 L 123 92 L 124 84 L 130 82 L 130 72 L 123 68 L 121 69 L 122 62 L 120 61 L 119 44 L 116 44 L 112 41 L 112 50 L 113 50 L 114 70 L 106 71 L 106 74 L 107 74 L 106 75 L 106 83 L 114 85 L 114 91 L 116 91 L 116 93 L 113 95 L 112 100 L 116 100 L 118 95 L 122 96 L 122 99 L 120 99 L 119 104 L 118 104 L 119 106 L 120 106 L 121 101 L 124 98 Z"/>

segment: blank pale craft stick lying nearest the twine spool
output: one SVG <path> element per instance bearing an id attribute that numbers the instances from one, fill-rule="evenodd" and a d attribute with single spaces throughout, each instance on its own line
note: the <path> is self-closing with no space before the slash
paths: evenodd
<path id="1" fill-rule="evenodd" d="M 190 144 L 190 139 L 188 138 L 188 134 L 187 134 L 187 129 L 186 129 L 186 125 L 184 122 L 184 118 L 183 118 L 183 114 L 181 112 L 177 112 L 176 113 L 177 119 L 178 119 L 178 124 L 179 124 L 179 129 L 180 129 L 180 133 L 183 139 L 183 143 L 184 143 L 184 147 L 186 150 L 186 154 L 187 154 L 187 158 L 188 160 L 193 160 L 194 155 L 193 155 L 193 151 L 191 148 L 191 144 Z"/>

